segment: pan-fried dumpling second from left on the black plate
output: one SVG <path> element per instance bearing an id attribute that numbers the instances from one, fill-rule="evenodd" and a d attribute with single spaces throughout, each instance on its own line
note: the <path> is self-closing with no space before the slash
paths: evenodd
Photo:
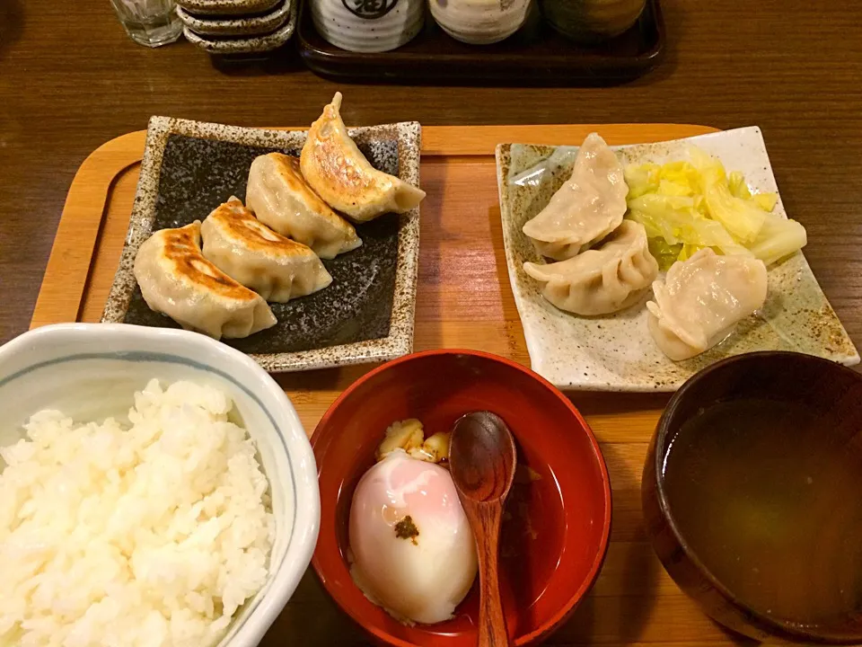
<path id="1" fill-rule="evenodd" d="M 332 282 L 311 248 L 261 225 L 236 198 L 207 216 L 200 233 L 207 260 L 267 301 L 286 303 Z"/>

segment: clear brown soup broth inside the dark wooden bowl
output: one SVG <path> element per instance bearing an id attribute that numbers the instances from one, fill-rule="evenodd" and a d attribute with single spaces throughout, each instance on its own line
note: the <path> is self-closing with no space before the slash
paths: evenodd
<path id="1" fill-rule="evenodd" d="M 692 551 L 743 604 L 800 625 L 862 614 L 862 433 L 818 418 L 796 403 L 718 403 L 664 455 Z"/>

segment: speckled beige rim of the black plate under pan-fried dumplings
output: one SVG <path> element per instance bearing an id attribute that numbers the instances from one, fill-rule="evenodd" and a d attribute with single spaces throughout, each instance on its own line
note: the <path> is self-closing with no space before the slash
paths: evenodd
<path id="1" fill-rule="evenodd" d="M 401 180 L 419 185 L 421 126 L 417 121 L 361 126 L 348 129 L 350 137 L 393 139 L 398 144 Z M 146 133 L 144 155 L 135 201 L 129 218 L 126 241 L 119 266 L 101 316 L 102 323 L 124 323 L 137 281 L 132 267 L 138 247 L 153 233 L 155 201 L 168 137 L 203 137 L 245 146 L 296 148 L 302 146 L 307 130 L 278 130 L 224 126 L 206 121 L 155 116 Z M 379 133 L 379 134 L 378 134 Z M 389 334 L 374 340 L 328 346 L 312 350 L 275 353 L 249 353 L 251 359 L 273 373 L 335 368 L 365 364 L 407 355 L 413 350 L 413 328 L 418 279 L 419 208 L 400 216 L 398 261 L 390 314 Z"/>

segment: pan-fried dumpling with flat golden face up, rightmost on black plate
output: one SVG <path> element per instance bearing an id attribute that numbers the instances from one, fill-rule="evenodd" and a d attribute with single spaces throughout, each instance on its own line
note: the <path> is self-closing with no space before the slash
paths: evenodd
<path id="1" fill-rule="evenodd" d="M 356 222 L 417 207 L 425 191 L 369 164 L 347 135 L 340 107 L 341 93 L 335 93 L 308 131 L 301 158 L 306 182 L 330 207 Z"/>

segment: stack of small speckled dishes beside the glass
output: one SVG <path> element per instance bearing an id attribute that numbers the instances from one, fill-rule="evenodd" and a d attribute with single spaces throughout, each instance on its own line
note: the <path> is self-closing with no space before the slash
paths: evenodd
<path id="1" fill-rule="evenodd" d="M 298 0 L 180 0 L 177 15 L 189 42 L 210 54 L 258 54 L 294 33 Z"/>

